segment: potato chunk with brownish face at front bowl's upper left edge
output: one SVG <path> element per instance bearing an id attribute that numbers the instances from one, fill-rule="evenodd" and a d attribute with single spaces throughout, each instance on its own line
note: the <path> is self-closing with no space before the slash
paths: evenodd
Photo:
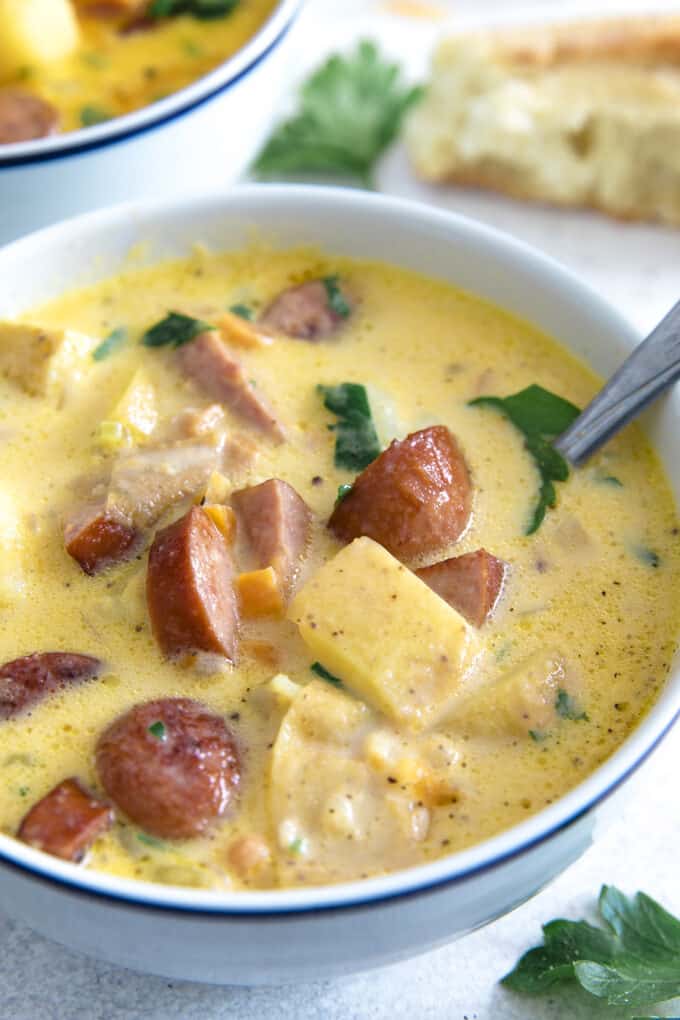
<path id="1" fill-rule="evenodd" d="M 0 322 L 0 374 L 31 396 L 58 398 L 83 378 L 96 345 L 72 329 Z"/>

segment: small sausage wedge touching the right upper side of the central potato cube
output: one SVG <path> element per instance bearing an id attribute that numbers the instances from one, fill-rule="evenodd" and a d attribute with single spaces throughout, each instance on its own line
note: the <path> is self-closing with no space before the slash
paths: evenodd
<path id="1" fill-rule="evenodd" d="M 485 549 L 416 570 L 421 580 L 475 627 L 489 617 L 499 601 L 508 564 Z"/>

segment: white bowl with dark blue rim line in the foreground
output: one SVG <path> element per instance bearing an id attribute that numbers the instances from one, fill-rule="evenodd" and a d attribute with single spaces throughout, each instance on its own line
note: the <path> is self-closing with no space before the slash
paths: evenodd
<path id="1" fill-rule="evenodd" d="M 537 323 L 608 373 L 638 341 L 592 291 L 544 256 L 451 213 L 376 195 L 251 187 L 123 206 L 43 231 L 0 251 L 0 318 L 196 241 L 231 249 L 255 226 L 279 246 L 311 243 L 450 280 Z M 680 491 L 680 394 L 646 427 Z M 321 888 L 213 892 L 128 881 L 62 863 L 0 835 L 0 904 L 86 954 L 173 978 L 284 983 L 366 969 L 423 952 L 499 917 L 589 845 L 595 813 L 680 710 L 680 673 L 635 732 L 557 803 L 462 853 L 380 878 Z M 598 812 L 601 814 L 601 812 Z"/>

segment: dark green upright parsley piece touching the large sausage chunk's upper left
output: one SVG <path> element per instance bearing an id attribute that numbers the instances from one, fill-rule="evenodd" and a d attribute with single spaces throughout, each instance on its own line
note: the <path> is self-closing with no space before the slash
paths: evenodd
<path id="1" fill-rule="evenodd" d="M 375 425 L 371 417 L 366 387 L 358 382 L 320 386 L 324 406 L 337 415 L 335 432 L 335 467 L 362 471 L 380 453 Z"/>

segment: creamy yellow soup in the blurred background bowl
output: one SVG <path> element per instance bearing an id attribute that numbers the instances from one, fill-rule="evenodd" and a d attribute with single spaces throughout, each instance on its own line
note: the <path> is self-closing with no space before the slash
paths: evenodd
<path id="1" fill-rule="evenodd" d="M 75 131 L 148 106 L 206 74 L 257 32 L 275 0 L 240 0 L 223 17 L 159 18 L 133 31 L 128 14 L 79 13 L 73 52 L 10 69 L 0 85 L 18 87 L 58 112 L 59 130 Z"/>

